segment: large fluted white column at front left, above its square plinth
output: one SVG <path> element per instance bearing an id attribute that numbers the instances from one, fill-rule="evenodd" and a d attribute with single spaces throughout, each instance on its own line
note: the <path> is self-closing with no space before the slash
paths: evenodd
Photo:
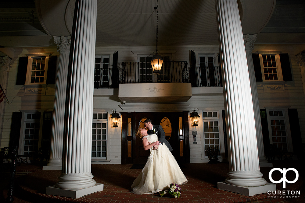
<path id="1" fill-rule="evenodd" d="M 95 185 L 91 131 L 97 0 L 76 0 L 66 92 L 62 174 L 56 187 Z"/>

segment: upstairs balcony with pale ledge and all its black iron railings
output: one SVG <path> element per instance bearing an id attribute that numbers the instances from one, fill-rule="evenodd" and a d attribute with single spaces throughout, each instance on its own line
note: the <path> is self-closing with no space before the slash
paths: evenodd
<path id="1" fill-rule="evenodd" d="M 219 67 L 188 68 L 187 61 L 164 61 L 160 74 L 150 62 L 122 62 L 117 68 L 95 68 L 95 88 L 119 88 L 127 103 L 187 102 L 192 87 L 220 87 Z M 200 91 L 202 92 L 202 91 Z"/>

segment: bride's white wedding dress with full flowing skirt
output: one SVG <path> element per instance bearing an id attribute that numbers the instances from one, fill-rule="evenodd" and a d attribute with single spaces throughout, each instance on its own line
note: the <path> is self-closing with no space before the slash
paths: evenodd
<path id="1" fill-rule="evenodd" d="M 152 143 L 158 141 L 157 135 L 146 135 L 142 138 Z M 166 145 L 159 145 L 158 149 L 150 149 L 148 160 L 131 185 L 134 194 L 154 194 L 167 190 L 171 183 L 185 184 L 188 180 L 181 171 L 176 159 Z"/>

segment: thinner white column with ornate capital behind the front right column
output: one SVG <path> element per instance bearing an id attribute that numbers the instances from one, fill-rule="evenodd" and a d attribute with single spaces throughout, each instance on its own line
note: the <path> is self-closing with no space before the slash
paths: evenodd
<path id="1" fill-rule="evenodd" d="M 260 163 L 260 167 L 263 167 L 263 166 L 272 167 L 272 163 L 268 163 L 268 161 L 265 157 L 265 153 L 264 153 L 262 124 L 260 121 L 260 103 L 258 101 L 257 85 L 256 85 L 256 78 L 255 78 L 253 58 L 252 58 L 252 50 L 254 47 L 254 42 L 256 40 L 256 34 L 254 34 L 254 35 L 246 34 L 246 35 L 243 35 L 243 37 L 244 37 L 244 43 L 245 43 L 245 49 L 246 49 L 246 57 L 247 57 L 247 63 L 248 63 L 249 79 L 250 79 L 253 110 L 254 110 L 258 160 Z"/>

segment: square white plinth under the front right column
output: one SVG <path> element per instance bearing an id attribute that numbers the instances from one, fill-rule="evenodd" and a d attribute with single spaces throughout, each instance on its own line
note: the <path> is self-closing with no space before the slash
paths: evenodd
<path id="1" fill-rule="evenodd" d="M 266 185 L 262 185 L 262 186 L 248 187 L 248 186 L 230 185 L 225 182 L 218 182 L 217 188 L 220 190 L 234 192 L 246 196 L 253 196 L 256 194 L 262 194 L 268 191 L 276 190 L 275 184 L 273 183 L 267 183 Z"/>

